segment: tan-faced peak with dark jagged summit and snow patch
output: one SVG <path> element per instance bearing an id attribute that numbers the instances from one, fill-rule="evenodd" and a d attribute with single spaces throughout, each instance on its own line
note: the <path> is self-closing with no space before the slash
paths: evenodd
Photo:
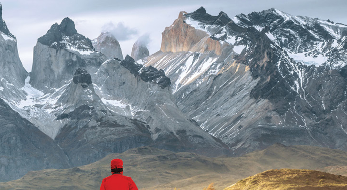
<path id="1" fill-rule="evenodd" d="M 192 13 L 181 11 L 178 18 L 170 27 L 162 32 L 160 50 L 162 52 L 193 51 L 207 53 L 214 51 L 220 55 L 222 43 L 214 40 L 215 27 L 210 25 L 226 25 L 230 18 L 221 12 L 218 16 L 211 16 L 201 7 Z M 213 31 L 212 31 L 213 30 Z"/>

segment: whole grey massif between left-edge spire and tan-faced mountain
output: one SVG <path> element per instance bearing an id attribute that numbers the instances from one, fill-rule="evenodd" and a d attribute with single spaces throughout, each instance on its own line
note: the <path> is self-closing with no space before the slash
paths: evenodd
<path id="1" fill-rule="evenodd" d="M 14 96 L 9 105 L 50 137 L 70 166 L 145 145 L 208 156 L 230 153 L 179 110 L 163 70 L 128 55 L 107 59 L 69 18 L 37 40 L 32 72 L 18 75 L 22 84 L 13 86 L 23 97 Z M 11 179 L 25 173 L 14 174 Z"/>

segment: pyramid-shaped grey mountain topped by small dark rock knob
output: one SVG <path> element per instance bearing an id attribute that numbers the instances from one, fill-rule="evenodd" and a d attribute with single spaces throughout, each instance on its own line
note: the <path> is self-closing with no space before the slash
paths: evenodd
<path id="1" fill-rule="evenodd" d="M 54 107 L 55 120 L 62 125 L 54 140 L 72 165 L 88 164 L 112 152 L 153 145 L 143 122 L 119 115 L 114 111 L 116 108 L 109 109 L 102 102 L 85 69 L 77 69 L 62 91 Z"/>

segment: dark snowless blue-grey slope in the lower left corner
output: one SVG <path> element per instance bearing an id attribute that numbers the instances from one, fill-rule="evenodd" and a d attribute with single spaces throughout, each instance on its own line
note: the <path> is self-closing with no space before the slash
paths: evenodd
<path id="1" fill-rule="evenodd" d="M 68 168 L 64 151 L 49 136 L 0 99 L 0 181 L 31 170 Z"/>

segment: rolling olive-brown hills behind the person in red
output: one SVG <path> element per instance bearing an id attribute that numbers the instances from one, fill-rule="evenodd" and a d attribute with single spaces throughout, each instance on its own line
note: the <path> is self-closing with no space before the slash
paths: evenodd
<path id="1" fill-rule="evenodd" d="M 110 175 L 109 163 L 124 161 L 124 175 L 141 189 L 203 189 L 211 182 L 224 189 L 238 180 L 270 169 L 317 169 L 347 165 L 347 153 L 312 146 L 276 144 L 242 157 L 208 158 L 194 153 L 173 153 L 154 148 L 137 148 L 110 154 L 100 161 L 78 168 L 31 171 L 23 178 L 0 183 L 7 189 L 98 189 Z"/>

